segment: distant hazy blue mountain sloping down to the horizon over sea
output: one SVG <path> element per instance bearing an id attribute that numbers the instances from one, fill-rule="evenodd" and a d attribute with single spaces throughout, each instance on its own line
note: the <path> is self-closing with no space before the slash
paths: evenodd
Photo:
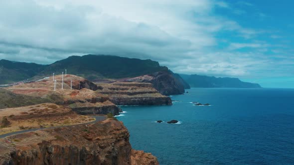
<path id="1" fill-rule="evenodd" d="M 236 87 L 260 88 L 258 83 L 246 83 L 237 78 L 216 78 L 213 76 L 180 75 L 191 87 Z"/>

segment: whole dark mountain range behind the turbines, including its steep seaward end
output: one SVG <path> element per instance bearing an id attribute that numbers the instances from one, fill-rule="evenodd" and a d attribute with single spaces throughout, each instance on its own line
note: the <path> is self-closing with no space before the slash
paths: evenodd
<path id="1" fill-rule="evenodd" d="M 44 77 L 73 74 L 90 81 L 99 79 L 127 79 L 151 75 L 154 87 L 164 95 L 181 94 L 184 92 L 184 81 L 180 76 L 173 74 L 167 67 L 160 66 L 152 60 L 131 59 L 107 55 L 71 56 L 64 60 L 56 61 L 50 65 L 34 63 L 20 63 L 1 60 L 0 84 L 15 83 L 22 80 L 39 80 Z M 2 66 L 2 67 L 1 67 Z M 2 71 L 2 72 L 1 72 Z M 160 74 L 158 74 L 160 73 Z"/>

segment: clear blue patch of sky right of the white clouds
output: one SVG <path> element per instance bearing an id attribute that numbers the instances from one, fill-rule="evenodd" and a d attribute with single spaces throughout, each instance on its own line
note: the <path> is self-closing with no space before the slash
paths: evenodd
<path id="1" fill-rule="evenodd" d="M 226 0 L 228 8 L 217 8 L 216 13 L 236 20 L 243 27 L 258 32 L 254 38 L 235 37 L 220 33 L 219 38 L 229 37 L 230 43 L 251 43 L 238 52 L 265 49 L 256 59 L 268 58 L 273 65 L 256 70 L 243 81 L 260 83 L 264 87 L 294 87 L 294 1 L 292 0 Z M 254 43 L 254 44 L 253 44 Z M 260 45 L 259 45 L 260 44 Z M 220 44 L 225 48 L 226 44 Z M 262 65 L 262 64 L 261 64 Z M 262 75 L 264 74 L 264 76 Z"/>

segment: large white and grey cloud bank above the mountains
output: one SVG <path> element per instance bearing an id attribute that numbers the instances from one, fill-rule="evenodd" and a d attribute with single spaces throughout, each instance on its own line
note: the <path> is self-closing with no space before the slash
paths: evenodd
<path id="1" fill-rule="evenodd" d="M 218 7 L 236 10 L 223 1 L 9 0 L 0 6 L 0 59 L 48 64 L 71 55 L 111 54 L 216 76 L 250 76 L 269 67 L 258 65 L 268 60 L 261 54 L 268 45 L 250 41 L 263 31 L 217 15 Z M 230 37 L 216 37 L 222 32 L 247 42 L 230 44 Z M 229 46 L 218 49 L 224 40 Z M 238 52 L 244 47 L 259 51 Z"/>

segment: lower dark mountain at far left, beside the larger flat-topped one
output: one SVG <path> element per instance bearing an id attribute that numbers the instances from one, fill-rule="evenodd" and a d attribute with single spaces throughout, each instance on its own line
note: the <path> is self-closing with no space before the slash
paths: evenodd
<path id="1" fill-rule="evenodd" d="M 0 84 L 29 79 L 44 70 L 46 65 L 0 60 Z"/>

